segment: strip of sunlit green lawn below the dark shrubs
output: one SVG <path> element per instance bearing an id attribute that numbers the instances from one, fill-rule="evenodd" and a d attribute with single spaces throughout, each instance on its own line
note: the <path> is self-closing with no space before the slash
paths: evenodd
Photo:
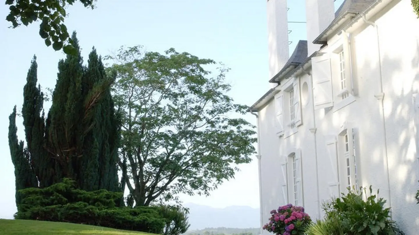
<path id="1" fill-rule="evenodd" d="M 2 220 L 1 235 L 152 235 L 146 232 L 116 230 L 107 227 L 38 220 Z"/>

